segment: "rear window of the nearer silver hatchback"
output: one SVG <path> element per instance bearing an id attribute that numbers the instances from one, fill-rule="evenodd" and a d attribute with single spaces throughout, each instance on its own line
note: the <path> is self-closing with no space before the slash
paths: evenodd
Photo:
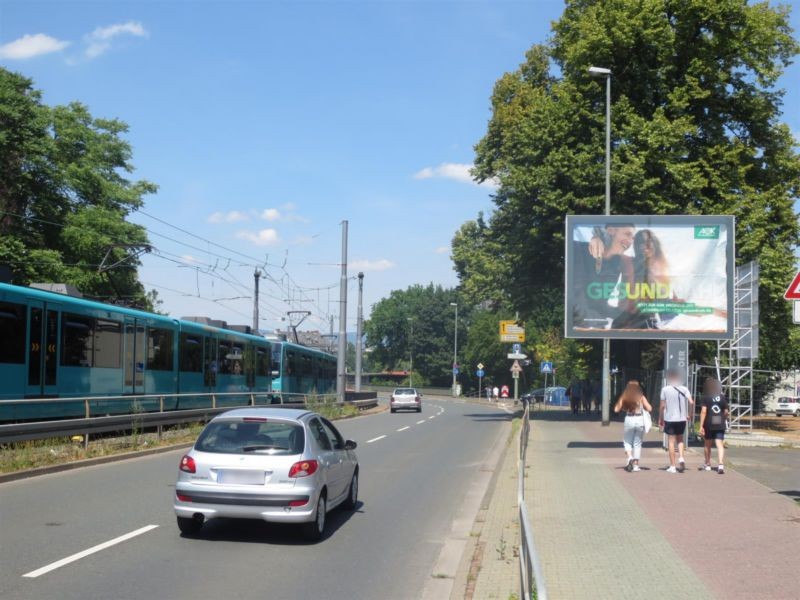
<path id="1" fill-rule="evenodd" d="M 194 447 L 200 452 L 224 454 L 300 454 L 305 447 L 305 432 L 289 421 L 212 421 L 200 434 Z"/>

